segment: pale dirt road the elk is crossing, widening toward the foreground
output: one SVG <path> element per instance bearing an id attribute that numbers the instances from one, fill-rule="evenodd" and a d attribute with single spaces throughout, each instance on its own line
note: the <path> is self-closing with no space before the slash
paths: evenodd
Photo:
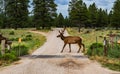
<path id="1" fill-rule="evenodd" d="M 77 53 L 78 46 L 72 45 L 72 52 L 69 53 L 68 46 L 63 53 L 60 53 L 64 43 L 56 36 L 59 29 L 48 34 L 46 43 L 31 55 L 21 57 L 18 63 L 0 68 L 0 74 L 120 74 L 99 63 L 91 61 L 83 53 Z M 68 35 L 65 32 L 65 35 Z"/>

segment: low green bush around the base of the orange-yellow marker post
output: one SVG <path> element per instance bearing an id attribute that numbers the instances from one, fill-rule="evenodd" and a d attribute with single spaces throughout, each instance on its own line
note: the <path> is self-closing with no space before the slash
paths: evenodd
<path id="1" fill-rule="evenodd" d="M 17 56 L 22 56 L 28 54 L 28 47 L 25 45 L 17 45 L 12 48 L 13 51 L 16 52 Z"/>

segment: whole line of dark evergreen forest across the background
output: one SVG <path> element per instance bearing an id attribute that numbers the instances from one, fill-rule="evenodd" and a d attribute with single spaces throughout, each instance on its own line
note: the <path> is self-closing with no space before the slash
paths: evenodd
<path id="1" fill-rule="evenodd" d="M 29 12 L 30 6 L 33 10 Z M 0 28 L 120 27 L 120 0 L 114 2 L 111 11 L 98 8 L 95 3 L 87 6 L 82 0 L 69 2 L 69 15 L 57 13 L 54 0 L 0 0 Z"/>

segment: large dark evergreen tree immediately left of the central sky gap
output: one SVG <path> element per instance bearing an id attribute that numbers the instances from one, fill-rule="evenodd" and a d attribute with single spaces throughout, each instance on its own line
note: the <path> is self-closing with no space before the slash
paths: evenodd
<path id="1" fill-rule="evenodd" d="M 56 4 L 54 0 L 33 0 L 34 24 L 37 29 L 50 27 L 56 17 Z"/>

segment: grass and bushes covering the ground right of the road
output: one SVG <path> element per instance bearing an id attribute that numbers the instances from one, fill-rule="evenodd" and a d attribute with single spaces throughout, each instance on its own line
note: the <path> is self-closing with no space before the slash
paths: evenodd
<path id="1" fill-rule="evenodd" d="M 104 56 L 103 36 L 109 33 L 120 34 L 119 30 L 105 29 L 82 29 L 79 33 L 76 28 L 68 28 L 69 34 L 72 36 L 80 36 L 86 46 L 85 54 L 92 60 L 97 60 L 104 67 L 112 70 L 120 71 L 120 45 L 114 43 L 108 46 L 107 56 Z M 109 40 L 109 38 L 107 38 Z M 120 38 L 117 37 L 117 40 Z M 116 38 L 114 39 L 116 41 Z"/>

